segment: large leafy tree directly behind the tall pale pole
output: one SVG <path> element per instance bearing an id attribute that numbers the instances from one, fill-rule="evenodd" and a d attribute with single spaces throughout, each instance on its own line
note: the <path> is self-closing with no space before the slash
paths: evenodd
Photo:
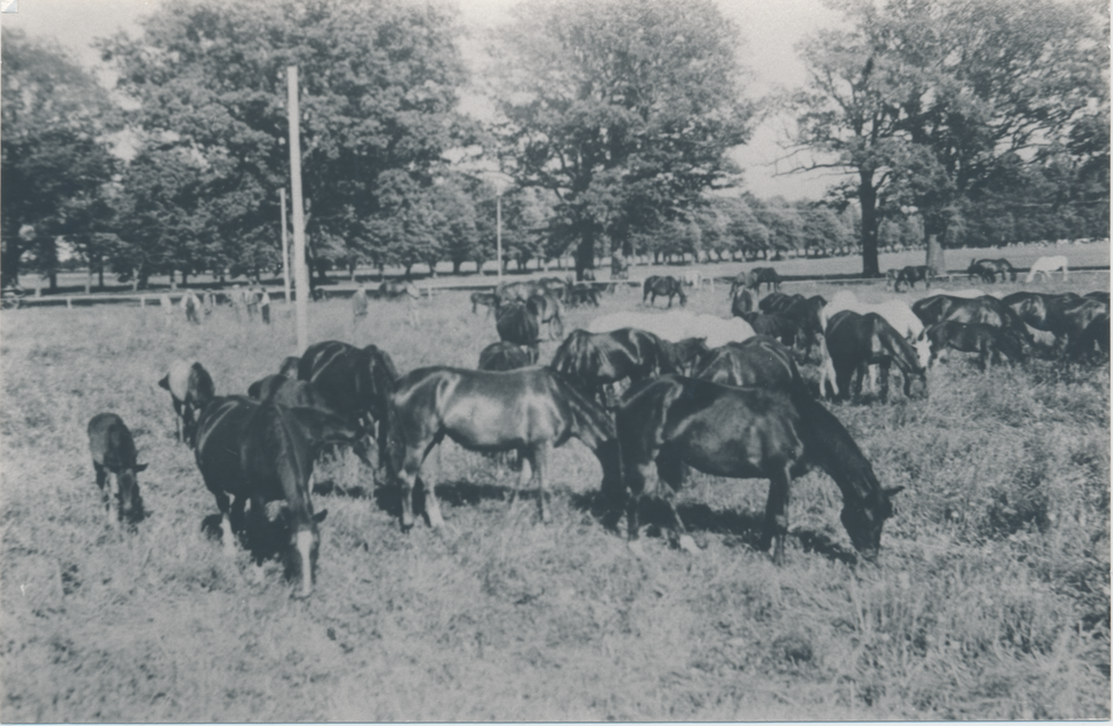
<path id="1" fill-rule="evenodd" d="M 388 217 L 400 208 L 398 194 L 433 184 L 453 144 L 463 78 L 456 32 L 454 12 L 435 2 L 190 0 L 165 6 L 139 38 L 117 36 L 102 51 L 120 72 L 119 88 L 140 104 L 136 120 L 150 153 L 177 150 L 176 159 L 194 164 L 203 179 L 188 197 L 161 206 L 196 215 L 206 244 L 233 256 L 244 257 L 245 239 L 269 241 L 268 255 L 250 244 L 247 258 L 230 264 L 278 258 L 288 66 L 299 69 L 313 253 L 366 257 L 373 246 L 386 251 L 386 262 L 406 263 L 424 258 L 427 239 L 397 248 Z M 181 189 L 173 182 L 158 187 Z M 406 226 L 424 224 L 418 216 Z M 147 228 L 141 220 L 130 226 Z"/>

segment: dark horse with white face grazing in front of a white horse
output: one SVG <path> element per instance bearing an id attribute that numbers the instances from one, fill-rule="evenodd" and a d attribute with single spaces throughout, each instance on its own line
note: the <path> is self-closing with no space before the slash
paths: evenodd
<path id="1" fill-rule="evenodd" d="M 835 382 L 843 400 L 850 398 L 850 382 L 855 392 L 861 392 L 863 379 L 871 364 L 880 367 L 880 398 L 888 401 L 889 367 L 896 363 L 904 377 L 907 398 L 927 395 L 927 363 L 930 346 L 920 340 L 914 347 L 904 336 L 877 313 L 859 315 L 854 311 L 836 313 L 827 325 L 827 350 L 835 366 Z"/>

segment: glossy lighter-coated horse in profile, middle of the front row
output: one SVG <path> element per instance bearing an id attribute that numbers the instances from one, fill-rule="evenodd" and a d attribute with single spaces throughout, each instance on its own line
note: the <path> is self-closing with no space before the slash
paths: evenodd
<path id="1" fill-rule="evenodd" d="M 545 503 L 549 454 L 570 436 L 595 452 L 603 467 L 604 487 L 613 487 L 609 480 L 619 478 L 610 416 L 548 367 L 506 372 L 418 369 L 398 381 L 390 410 L 387 459 L 401 487 L 403 530 L 414 522 L 415 483 L 424 490 L 430 526 L 444 522 L 433 485 L 422 482 L 418 474 L 430 451 L 445 436 L 471 451 L 516 450 L 520 460 L 530 462 L 531 479 L 536 479 L 538 506 L 544 522 L 551 519 Z"/>

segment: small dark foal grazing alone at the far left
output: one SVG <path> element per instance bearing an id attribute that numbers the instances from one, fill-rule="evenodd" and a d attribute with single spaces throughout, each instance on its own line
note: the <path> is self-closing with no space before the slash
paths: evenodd
<path id="1" fill-rule="evenodd" d="M 89 452 L 97 472 L 97 487 L 109 520 L 135 523 L 142 519 L 142 497 L 136 474 L 147 464 L 136 463 L 136 444 L 124 419 L 115 413 L 98 413 L 89 421 Z M 108 475 L 116 478 L 116 491 L 108 483 Z M 116 517 L 112 517 L 116 500 Z"/>

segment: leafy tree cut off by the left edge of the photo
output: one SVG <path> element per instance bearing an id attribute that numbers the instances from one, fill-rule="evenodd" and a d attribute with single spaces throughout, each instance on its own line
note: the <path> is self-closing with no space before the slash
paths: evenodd
<path id="1" fill-rule="evenodd" d="M 4 284 L 17 283 L 30 253 L 33 268 L 49 275 L 53 287 L 57 238 L 91 234 L 106 217 L 116 109 L 58 48 L 7 28 L 0 45 L 0 271 Z"/>

